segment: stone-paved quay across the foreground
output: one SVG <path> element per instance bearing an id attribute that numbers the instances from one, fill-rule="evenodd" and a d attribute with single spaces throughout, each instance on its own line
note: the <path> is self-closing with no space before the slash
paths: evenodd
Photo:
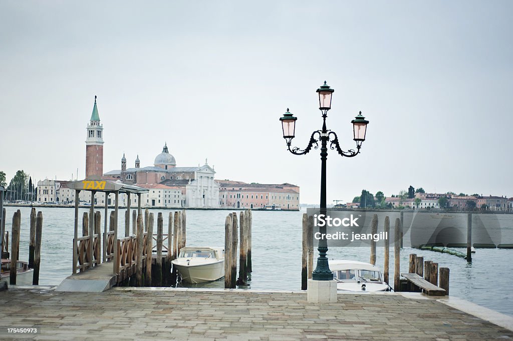
<path id="1" fill-rule="evenodd" d="M 436 300 L 339 294 L 308 304 L 304 292 L 130 290 L 0 292 L 0 340 L 492 340 L 513 332 Z M 7 327 L 37 326 L 16 335 Z"/>

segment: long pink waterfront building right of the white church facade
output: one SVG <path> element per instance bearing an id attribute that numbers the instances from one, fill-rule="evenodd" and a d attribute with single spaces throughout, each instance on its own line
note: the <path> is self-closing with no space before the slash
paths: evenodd
<path id="1" fill-rule="evenodd" d="M 299 186 L 284 184 L 247 184 L 216 180 L 219 205 L 225 208 L 299 210 Z"/>

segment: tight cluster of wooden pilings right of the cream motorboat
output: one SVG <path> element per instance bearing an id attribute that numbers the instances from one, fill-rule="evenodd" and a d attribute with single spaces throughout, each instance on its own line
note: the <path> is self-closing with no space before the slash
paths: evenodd
<path id="1" fill-rule="evenodd" d="M 225 220 L 225 288 L 246 285 L 251 269 L 251 210 L 233 212 Z M 239 228 L 240 227 L 240 228 Z M 239 236 L 240 234 L 240 236 Z M 239 243 L 240 239 L 240 243 Z M 239 278 L 237 278 L 237 249 L 239 248 Z"/>

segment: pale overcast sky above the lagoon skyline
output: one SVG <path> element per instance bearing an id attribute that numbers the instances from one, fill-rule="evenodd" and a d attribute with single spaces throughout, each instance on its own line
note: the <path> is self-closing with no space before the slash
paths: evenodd
<path id="1" fill-rule="evenodd" d="M 327 128 L 327 199 L 366 189 L 513 196 L 510 1 L 0 1 L 0 170 L 85 175 L 94 95 L 104 172 L 153 160 L 213 165 L 217 179 L 300 186 L 319 202 L 320 151 L 287 151 Z"/>

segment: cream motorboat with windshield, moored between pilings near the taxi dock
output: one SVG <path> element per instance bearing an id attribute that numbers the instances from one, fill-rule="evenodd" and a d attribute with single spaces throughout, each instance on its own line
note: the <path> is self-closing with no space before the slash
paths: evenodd
<path id="1" fill-rule="evenodd" d="M 185 247 L 171 264 L 186 283 L 198 284 L 224 276 L 224 249 Z"/>

